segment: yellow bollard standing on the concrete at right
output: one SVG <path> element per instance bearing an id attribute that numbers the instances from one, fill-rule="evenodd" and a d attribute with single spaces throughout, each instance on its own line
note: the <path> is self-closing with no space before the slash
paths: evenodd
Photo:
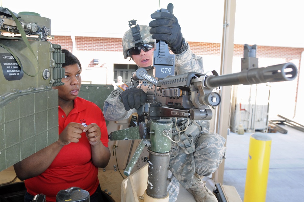
<path id="1" fill-rule="evenodd" d="M 244 202 L 266 200 L 271 137 L 264 133 L 250 136 Z"/>

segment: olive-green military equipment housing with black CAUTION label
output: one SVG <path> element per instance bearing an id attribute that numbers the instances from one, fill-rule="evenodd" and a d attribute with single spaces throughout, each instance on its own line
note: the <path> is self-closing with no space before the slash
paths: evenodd
<path id="1" fill-rule="evenodd" d="M 0 171 L 58 139 L 58 91 L 65 62 L 47 41 L 50 19 L 0 7 Z"/>

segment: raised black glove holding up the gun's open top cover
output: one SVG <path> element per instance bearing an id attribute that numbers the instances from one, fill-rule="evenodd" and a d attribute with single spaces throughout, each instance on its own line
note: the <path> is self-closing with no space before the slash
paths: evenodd
<path id="1" fill-rule="evenodd" d="M 151 27 L 150 33 L 152 38 L 156 40 L 166 41 L 172 51 L 181 48 L 183 34 L 178 24 L 177 18 L 172 14 L 173 5 L 168 4 L 167 12 L 155 12 L 151 14 L 151 18 L 155 19 L 149 23 Z"/>

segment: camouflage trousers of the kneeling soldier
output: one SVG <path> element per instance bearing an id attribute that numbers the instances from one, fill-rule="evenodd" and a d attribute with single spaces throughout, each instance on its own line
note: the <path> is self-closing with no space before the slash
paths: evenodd
<path id="1" fill-rule="evenodd" d="M 174 202 L 179 193 L 179 183 L 186 189 L 193 184 L 194 173 L 209 176 L 219 167 L 225 156 L 225 138 L 219 134 L 207 133 L 202 124 L 189 124 L 188 129 L 173 135 L 170 169 L 173 174 L 168 183 L 169 201 Z M 209 127 L 208 127 L 209 129 Z M 169 176 L 170 177 L 170 172 Z"/>

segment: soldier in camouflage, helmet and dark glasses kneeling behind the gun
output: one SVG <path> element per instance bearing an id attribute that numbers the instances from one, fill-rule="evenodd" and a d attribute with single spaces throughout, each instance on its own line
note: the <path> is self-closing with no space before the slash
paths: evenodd
<path id="1" fill-rule="evenodd" d="M 149 26 L 141 25 L 140 35 L 145 46 L 136 46 L 140 41 L 134 41 L 131 29 L 123 36 L 124 58 L 132 58 L 136 65 L 147 69 L 148 74 L 153 75 L 153 51 L 151 47 L 154 39 L 163 40 L 176 54 L 175 69 L 177 74 L 190 71 L 203 73 L 202 57 L 192 53 L 188 43 L 182 38 L 181 28 L 176 17 L 170 13 L 154 13 Z M 170 25 L 170 27 L 168 27 Z M 165 33 L 165 34 L 164 34 Z M 151 53 L 152 52 L 152 53 Z M 152 56 L 151 56 L 152 55 Z M 147 66 L 141 66 L 142 63 Z M 136 84 L 135 84 L 136 85 Z M 104 103 L 103 113 L 106 120 L 119 121 L 129 118 L 135 113 L 140 105 L 146 102 L 146 94 L 142 89 L 134 88 L 131 81 L 118 86 L 109 95 Z M 136 87 L 136 86 L 135 86 Z M 175 126 L 173 120 L 173 131 L 183 131 L 178 141 L 178 132 L 172 134 L 172 154 L 170 155 L 168 183 L 169 201 L 177 199 L 179 183 L 185 187 L 198 202 L 217 201 L 215 195 L 202 180 L 218 168 L 223 161 L 226 151 L 225 138 L 219 134 L 209 133 L 209 121 L 191 121 L 185 118 L 178 118 Z"/>

